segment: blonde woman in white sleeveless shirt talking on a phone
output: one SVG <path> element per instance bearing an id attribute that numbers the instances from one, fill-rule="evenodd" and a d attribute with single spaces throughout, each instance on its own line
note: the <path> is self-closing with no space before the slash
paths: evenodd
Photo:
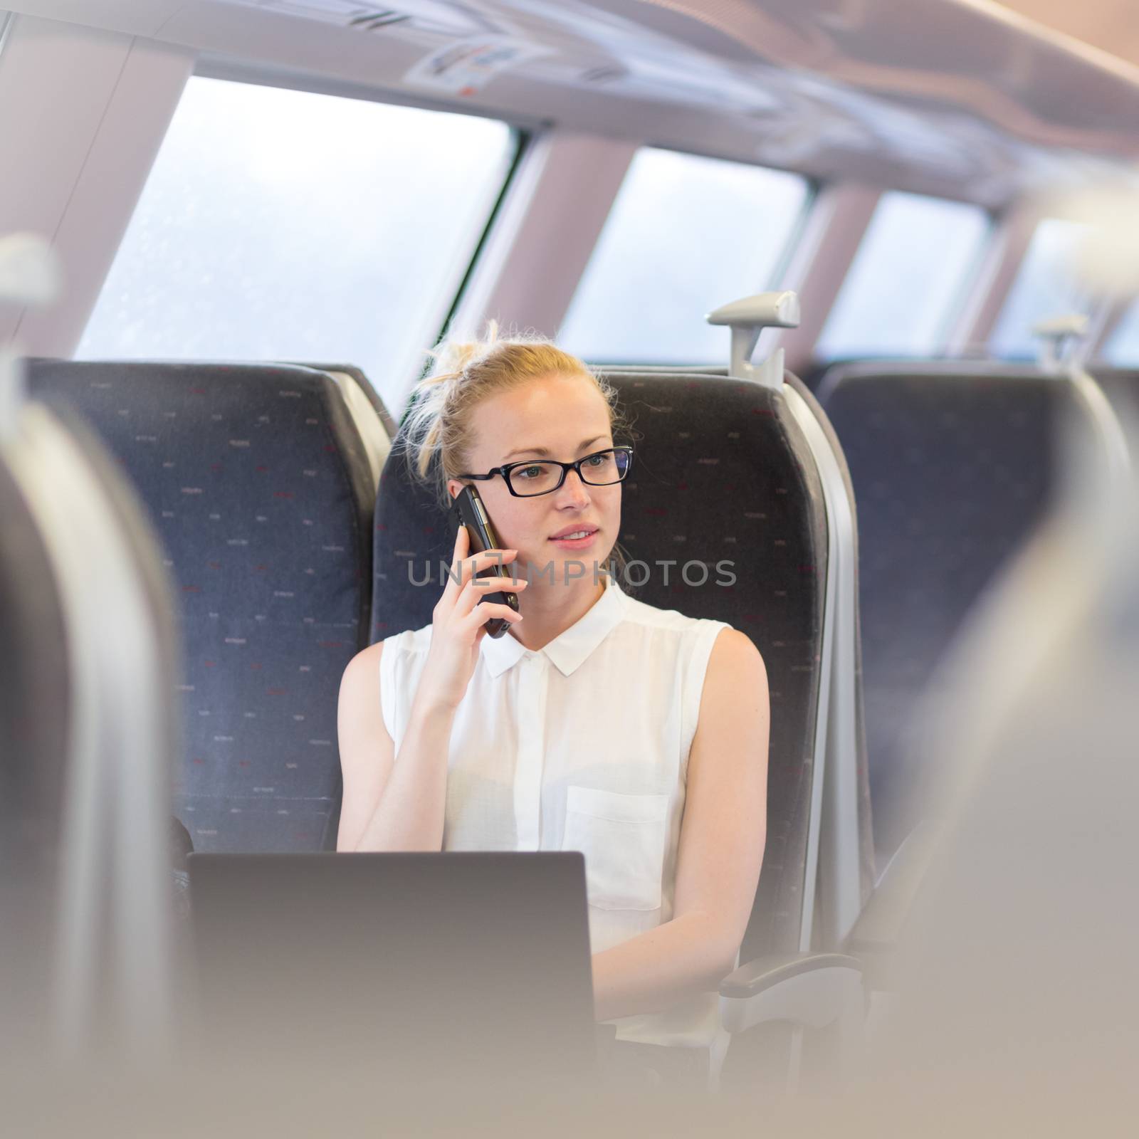
<path id="1" fill-rule="evenodd" d="M 762 657 L 606 572 L 628 469 L 607 384 L 493 326 L 435 357 L 407 424 L 416 470 L 441 502 L 475 485 L 507 548 L 468 558 L 459 527 L 432 623 L 345 670 L 337 849 L 583 851 L 595 1016 L 614 1055 L 699 1084 L 763 857 Z M 517 613 L 480 604 L 495 562 Z"/>

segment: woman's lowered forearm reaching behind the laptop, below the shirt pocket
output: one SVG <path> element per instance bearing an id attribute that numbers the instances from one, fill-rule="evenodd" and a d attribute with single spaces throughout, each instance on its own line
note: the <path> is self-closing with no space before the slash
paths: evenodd
<path id="1" fill-rule="evenodd" d="M 729 940 L 696 911 L 595 953 L 595 1019 L 656 1013 L 715 989 L 735 964 L 738 945 L 729 950 Z"/>

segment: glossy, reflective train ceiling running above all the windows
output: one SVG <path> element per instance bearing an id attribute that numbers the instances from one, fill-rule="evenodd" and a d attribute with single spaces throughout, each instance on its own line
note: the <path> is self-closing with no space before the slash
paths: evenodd
<path id="1" fill-rule="evenodd" d="M 0 5 L 194 48 L 207 74 L 241 62 L 986 205 L 1139 156 L 1139 66 L 1093 46 L 1095 3 L 1090 42 L 1054 0 Z M 1050 8 L 1063 31 L 1033 21 Z M 1120 43 L 1139 57 L 1139 33 Z"/>

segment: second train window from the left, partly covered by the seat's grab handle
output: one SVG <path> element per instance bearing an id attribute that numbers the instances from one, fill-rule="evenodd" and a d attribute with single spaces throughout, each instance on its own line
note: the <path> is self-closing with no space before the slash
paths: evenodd
<path id="1" fill-rule="evenodd" d="M 797 174 L 641 148 L 562 343 L 609 363 L 727 362 L 727 331 L 703 316 L 771 287 L 809 195 Z"/>

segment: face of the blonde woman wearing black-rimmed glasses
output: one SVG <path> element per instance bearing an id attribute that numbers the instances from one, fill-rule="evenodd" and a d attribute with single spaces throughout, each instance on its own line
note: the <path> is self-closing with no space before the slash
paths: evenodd
<path id="1" fill-rule="evenodd" d="M 613 446 L 609 408 L 597 385 L 585 376 L 555 374 L 530 380 L 480 403 L 473 412 L 475 445 L 469 454 L 474 474 L 523 459 L 559 459 L 571 462 Z M 462 483 L 452 478 L 453 498 Z M 518 565 L 533 567 L 531 580 L 539 585 L 544 574 L 563 584 L 576 577 L 595 582 L 593 564 L 604 566 L 621 526 L 621 484 L 593 486 L 574 472 L 548 494 L 517 498 L 506 481 L 494 478 L 475 484 L 498 531 L 503 549 L 518 551 Z M 576 548 L 558 544 L 556 534 L 593 530 L 587 543 Z M 566 563 L 580 563 L 584 571 Z M 519 568 L 519 574 L 523 570 Z M 531 588 L 533 589 L 534 585 Z"/>

